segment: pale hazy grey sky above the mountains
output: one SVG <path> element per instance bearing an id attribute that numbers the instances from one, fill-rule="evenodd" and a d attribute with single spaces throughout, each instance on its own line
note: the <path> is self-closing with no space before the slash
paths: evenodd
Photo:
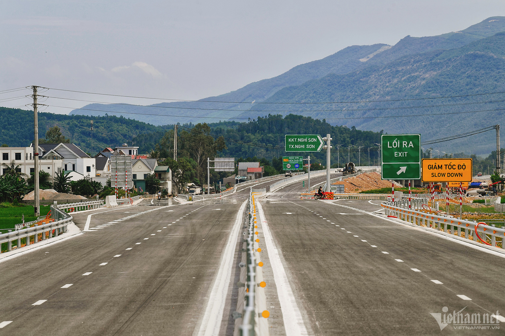
<path id="1" fill-rule="evenodd" d="M 505 1 L 0 0 L 0 91 L 38 85 L 200 99 L 349 45 L 395 44 L 406 35 L 458 31 L 490 16 L 505 16 Z M 8 107 L 26 103 L 0 100 Z"/>

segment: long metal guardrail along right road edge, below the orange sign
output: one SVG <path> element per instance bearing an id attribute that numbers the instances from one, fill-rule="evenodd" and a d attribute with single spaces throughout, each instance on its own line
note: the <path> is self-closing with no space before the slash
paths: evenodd
<path id="1" fill-rule="evenodd" d="M 477 221 L 463 220 L 450 215 L 408 209 L 402 207 L 399 202 L 383 202 L 381 206 L 387 216 L 393 216 L 414 225 L 431 228 L 438 232 L 473 240 L 495 248 L 505 249 L 505 244 L 503 244 L 505 229 L 497 228 L 494 224 L 478 224 Z"/>

